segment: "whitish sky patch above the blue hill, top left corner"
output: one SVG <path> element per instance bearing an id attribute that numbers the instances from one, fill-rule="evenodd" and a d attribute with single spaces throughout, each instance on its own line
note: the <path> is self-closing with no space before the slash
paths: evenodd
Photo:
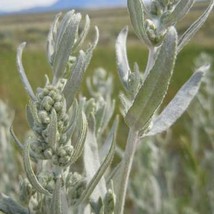
<path id="1" fill-rule="evenodd" d="M 48 6 L 57 0 L 0 0 L 0 10 L 5 12 L 19 11 L 37 6 Z"/>

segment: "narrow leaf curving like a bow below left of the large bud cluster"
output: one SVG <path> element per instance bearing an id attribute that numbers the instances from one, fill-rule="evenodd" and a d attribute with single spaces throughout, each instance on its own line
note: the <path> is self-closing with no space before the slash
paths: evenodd
<path id="1" fill-rule="evenodd" d="M 38 181 L 36 175 L 34 174 L 34 171 L 31 166 L 30 162 L 30 156 L 29 156 L 29 149 L 30 149 L 30 143 L 29 141 L 26 141 L 24 145 L 24 156 L 23 156 L 23 162 L 24 162 L 24 168 L 27 175 L 28 180 L 30 181 L 31 185 L 40 193 L 45 194 L 47 196 L 51 196 L 50 192 L 46 190 Z"/>

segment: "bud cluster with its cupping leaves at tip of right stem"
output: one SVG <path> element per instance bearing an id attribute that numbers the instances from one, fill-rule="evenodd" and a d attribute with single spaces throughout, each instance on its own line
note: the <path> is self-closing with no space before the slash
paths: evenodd
<path id="1" fill-rule="evenodd" d="M 146 6 L 142 0 L 128 0 L 133 27 L 148 47 L 160 46 L 169 27 L 185 15 L 186 10 L 179 11 L 178 3 L 178 0 L 152 0 Z M 188 5 L 191 6 L 190 2 Z"/>

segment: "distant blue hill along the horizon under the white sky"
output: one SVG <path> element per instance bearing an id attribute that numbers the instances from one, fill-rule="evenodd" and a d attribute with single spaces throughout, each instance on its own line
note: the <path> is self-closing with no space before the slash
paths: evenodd
<path id="1" fill-rule="evenodd" d="M 21 10 L 19 12 L 2 12 L 0 15 L 11 13 L 43 13 L 50 11 L 59 11 L 71 8 L 102 8 L 102 7 L 117 7 L 125 6 L 126 0 L 58 0 L 56 3 L 46 7 L 33 7 L 30 9 Z"/>

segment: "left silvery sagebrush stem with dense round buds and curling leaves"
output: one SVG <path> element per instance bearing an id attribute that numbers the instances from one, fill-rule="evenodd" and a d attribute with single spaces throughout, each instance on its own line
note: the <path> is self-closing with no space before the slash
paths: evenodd
<path id="1" fill-rule="evenodd" d="M 18 47 L 18 71 L 30 97 L 26 115 L 32 135 L 22 144 L 11 128 L 14 141 L 23 154 L 27 180 L 24 179 L 20 183 L 21 205 L 14 201 L 10 209 L 7 203 L 13 199 L 6 200 L 7 197 L 2 196 L 0 207 L 5 213 L 17 213 L 23 209 L 23 213 L 29 210 L 30 213 L 59 214 L 84 209 L 84 204 L 87 204 L 97 184 L 103 179 L 102 176 L 113 158 L 117 119 L 107 139 L 102 139 L 110 145 L 109 153 L 96 165 L 94 171 L 91 171 L 94 174 L 88 174 L 93 167 L 88 164 L 85 164 L 85 174 L 84 171 L 81 175 L 72 170 L 71 166 L 83 154 L 85 144 L 87 143 L 88 149 L 91 150 L 93 138 L 100 136 L 108 125 L 114 104 L 112 105 L 113 101 L 110 98 L 111 93 L 107 95 L 108 101 L 105 103 L 106 96 L 103 97 L 104 92 L 101 93 L 102 89 L 99 86 L 95 86 L 99 95 L 94 98 L 94 104 L 85 98 L 77 97 L 83 74 L 97 45 L 99 31 L 95 27 L 95 39 L 84 51 L 81 46 L 89 31 L 89 17 L 86 16 L 83 31 L 79 33 L 80 13 L 69 11 L 61 20 L 60 16 L 61 14 L 56 16 L 48 36 L 47 54 L 53 78 L 50 81 L 46 76 L 45 86 L 37 88 L 36 92 L 33 91 L 22 65 L 22 52 L 26 43 Z M 110 79 L 109 81 L 111 84 Z M 90 105 L 97 108 L 93 110 Z M 106 107 L 103 111 L 104 106 Z M 95 120 L 98 128 L 97 134 L 93 136 L 94 132 L 91 133 L 90 130 L 95 127 Z M 89 137 L 90 133 L 92 138 Z M 85 150 L 87 151 L 87 148 Z M 85 157 L 90 155 L 88 151 Z M 37 170 L 34 170 L 35 167 Z M 11 211 L 16 208 L 17 212 Z"/>

